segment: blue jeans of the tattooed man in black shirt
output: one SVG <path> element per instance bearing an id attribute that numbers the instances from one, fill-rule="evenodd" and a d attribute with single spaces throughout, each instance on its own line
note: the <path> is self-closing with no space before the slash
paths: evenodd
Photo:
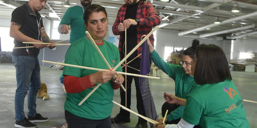
<path id="1" fill-rule="evenodd" d="M 35 56 L 12 55 L 13 65 L 16 69 L 17 89 L 15 92 L 15 118 L 18 121 L 24 119 L 24 99 L 28 93 L 28 116 L 36 116 L 36 98 L 40 83 L 40 65 Z"/>

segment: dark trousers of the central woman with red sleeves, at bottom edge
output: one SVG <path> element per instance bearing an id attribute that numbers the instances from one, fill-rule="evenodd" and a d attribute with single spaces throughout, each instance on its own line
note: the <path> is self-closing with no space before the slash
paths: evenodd
<path id="1" fill-rule="evenodd" d="M 82 118 L 65 110 L 65 119 L 69 128 L 111 128 L 111 117 L 102 120 Z"/>

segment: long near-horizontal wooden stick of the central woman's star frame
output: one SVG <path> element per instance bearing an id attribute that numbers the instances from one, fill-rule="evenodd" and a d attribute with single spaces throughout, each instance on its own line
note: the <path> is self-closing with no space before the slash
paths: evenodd
<path id="1" fill-rule="evenodd" d="M 84 67 L 84 66 L 71 65 L 71 64 L 66 64 L 66 63 L 58 63 L 58 62 L 52 62 L 52 61 L 42 61 L 42 62 L 44 62 L 44 63 L 58 64 L 58 65 L 64 65 L 64 66 L 70 66 L 70 67 L 83 68 L 83 69 L 88 69 L 88 70 L 110 71 L 110 70 L 106 70 L 106 69 L 99 69 L 99 68 L 93 68 L 93 67 Z M 160 79 L 159 77 L 150 77 L 150 76 L 144 76 L 144 75 L 132 74 L 132 73 L 126 73 L 126 72 L 119 72 L 119 74 L 130 75 L 130 76 L 136 76 L 136 77 L 145 77 L 145 78 L 150 78 L 150 79 Z"/>

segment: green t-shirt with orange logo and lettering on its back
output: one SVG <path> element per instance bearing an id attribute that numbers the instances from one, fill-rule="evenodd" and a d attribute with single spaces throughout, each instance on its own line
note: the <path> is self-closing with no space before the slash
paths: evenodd
<path id="1" fill-rule="evenodd" d="M 187 96 L 182 118 L 202 128 L 249 128 L 242 98 L 228 79 L 193 90 Z"/>

